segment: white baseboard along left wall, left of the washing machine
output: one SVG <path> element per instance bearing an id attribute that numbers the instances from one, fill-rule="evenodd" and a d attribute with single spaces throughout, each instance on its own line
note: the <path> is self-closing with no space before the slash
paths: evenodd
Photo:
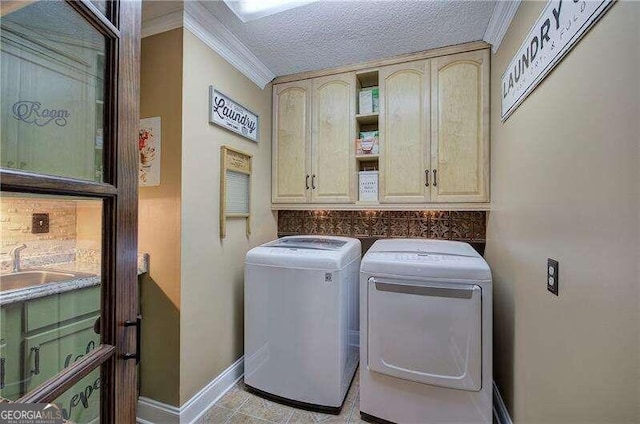
<path id="1" fill-rule="evenodd" d="M 180 408 L 157 402 L 153 399 L 138 399 L 140 424 L 193 423 L 215 404 L 244 375 L 244 356 L 231 364 L 222 374 L 207 384 Z"/>

